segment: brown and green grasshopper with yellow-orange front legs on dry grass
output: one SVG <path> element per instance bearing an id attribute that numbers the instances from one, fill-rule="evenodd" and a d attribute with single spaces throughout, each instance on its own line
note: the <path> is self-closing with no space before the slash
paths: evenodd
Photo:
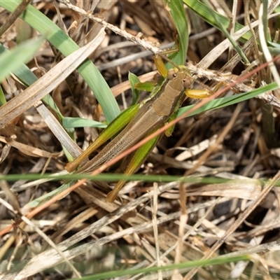
<path id="1" fill-rule="evenodd" d="M 167 57 L 165 58 L 167 59 Z M 167 59 L 169 61 L 169 59 Z M 162 61 L 161 55 L 154 57 L 155 65 L 160 73 L 158 82 L 151 91 L 151 96 L 141 104 L 134 105 L 123 112 L 116 120 L 114 120 L 109 127 L 97 137 L 97 140 L 92 143 L 83 153 L 81 153 L 76 160 L 69 162 L 65 169 L 68 172 L 73 172 L 80 162 L 87 158 L 99 146 L 104 144 L 105 141 L 113 137 L 121 125 L 126 127 L 107 144 L 102 151 L 100 151 L 92 160 L 85 163 L 78 173 L 90 173 L 94 169 L 99 168 L 101 165 L 106 164 L 116 156 L 123 153 L 127 148 L 137 144 L 148 134 L 165 125 L 169 119 L 174 118 L 178 109 L 185 97 L 194 99 L 206 98 L 211 95 L 208 90 L 190 90 L 193 84 L 193 78 L 190 71 L 184 65 L 176 66 L 167 69 Z M 137 87 L 141 87 L 137 85 Z M 124 123 L 125 120 L 125 123 Z M 171 132 L 165 132 L 170 136 Z M 134 154 L 130 164 L 127 166 L 125 174 L 129 175 L 134 173 L 137 168 L 146 160 L 153 147 L 158 143 L 159 136 L 148 141 L 144 146 L 141 146 Z M 115 188 L 107 195 L 106 200 L 113 202 L 125 181 L 119 181 Z"/>

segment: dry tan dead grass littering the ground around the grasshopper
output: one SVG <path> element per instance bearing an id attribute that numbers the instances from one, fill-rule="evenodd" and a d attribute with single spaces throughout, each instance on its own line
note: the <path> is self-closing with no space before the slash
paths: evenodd
<path id="1" fill-rule="evenodd" d="M 80 47 L 96 36 L 102 38 L 99 33 L 102 25 L 90 20 L 91 14 L 127 31 L 132 41 L 138 42 L 141 32 L 146 41 L 153 43 L 153 50 L 173 41 L 174 26 L 164 1 L 100 1 L 97 7 L 91 1 L 72 2 L 87 13 L 81 14 L 78 9 L 71 9 L 71 5 L 58 1 L 37 1 L 33 6 Z M 212 2 L 218 13 L 230 18 L 232 12 L 226 3 Z M 243 25 L 249 13 L 252 25 L 258 26 L 259 4 L 250 1 L 246 6 L 239 2 L 236 13 Z M 273 1 L 273 4 L 275 7 L 278 3 Z M 89 10 L 92 13 L 88 13 Z M 0 12 L 3 25 L 8 22 L 8 12 L 3 8 Z M 189 8 L 186 13 L 191 32 L 188 59 L 193 64 L 189 64 L 190 69 L 194 72 L 215 70 L 203 72 L 203 76 L 202 72 L 197 73 L 206 82 L 203 78 L 213 73 L 217 80 L 236 80 L 245 67 L 238 56 L 232 58 L 225 52 L 221 43 L 225 37 L 221 31 L 210 28 Z M 274 32 L 274 22 L 269 23 Z M 34 29 L 17 19 L 1 35 L 0 43 L 12 49 L 22 33 L 25 39 L 37 36 Z M 132 102 L 132 94 L 126 91 L 129 87 L 125 81 L 127 72 L 137 76 L 146 74 L 143 80 L 151 80 L 155 71 L 151 52 L 127 39 L 107 26 L 104 40 L 100 39 L 97 50 L 89 56 L 113 87 L 121 109 Z M 251 62 L 260 59 L 261 64 L 264 59 L 255 53 L 253 45 L 253 40 L 246 45 L 246 56 Z M 215 52 L 203 59 L 211 49 Z M 64 117 L 104 121 L 90 87 L 78 71 L 71 73 L 71 69 L 76 69 L 88 56 L 86 51 L 90 53 L 83 49 L 72 59 L 64 58 L 53 45 L 45 42 L 27 66 L 39 78 L 34 85 L 35 90 L 42 88 L 39 92 L 43 92 L 55 75 L 51 96 Z M 222 54 L 218 55 L 220 52 Z M 71 61 L 69 64 L 67 58 Z M 58 64 L 60 61 L 65 62 L 64 66 Z M 66 71 L 71 74 L 67 76 Z M 269 76 L 267 71 L 265 68 L 259 75 L 248 77 L 238 85 L 238 91 L 260 87 L 260 77 Z M 51 75 L 45 76 L 48 73 Z M 77 146 L 67 136 L 57 115 L 38 102 L 41 98 L 37 93 L 35 99 L 30 93 L 20 103 L 21 99 L 15 97 L 25 90 L 25 85 L 18 78 L 9 76 L 1 85 L 7 104 L 14 100 L 11 109 L 5 111 L 5 125 L 1 123 L 2 175 L 62 172 L 67 162 L 62 144 L 78 155 L 78 146 L 84 150 L 100 132 L 93 127 L 78 128 L 74 134 L 73 130 L 68 131 L 74 135 Z M 277 94 L 274 92 L 276 97 Z M 134 276 L 108 275 L 106 279 L 279 278 L 279 107 L 272 107 L 272 102 L 265 104 L 264 96 L 260 98 L 262 100 L 252 98 L 211 111 L 196 119 L 184 118 L 176 125 L 172 137 L 162 137 L 139 170 L 139 174 L 214 179 L 207 184 L 198 181 L 162 183 L 160 179 L 132 181 L 120 191 L 118 200 L 110 204 L 105 199 L 111 190 L 106 183 L 86 181 L 82 188 L 76 188 L 61 200 L 51 201 L 48 207 L 40 203 L 33 209 L 37 204 L 31 202 L 42 195 L 46 195 L 44 201 L 48 201 L 50 192 L 57 190 L 62 182 L 1 180 L 0 279 L 26 279 L 32 275 L 34 279 L 67 279 L 113 270 L 163 267 L 218 255 L 227 258 L 250 255 L 250 260 L 203 267 L 197 273 L 184 268 Z M 274 97 L 269 95 L 269 98 Z M 277 102 L 277 98 L 273 100 Z M 15 105 L 20 110 L 17 116 L 13 115 Z M 121 167 L 113 167 L 110 172 L 119 173 L 118 168 Z M 13 230 L 11 219 L 21 221 Z"/>

